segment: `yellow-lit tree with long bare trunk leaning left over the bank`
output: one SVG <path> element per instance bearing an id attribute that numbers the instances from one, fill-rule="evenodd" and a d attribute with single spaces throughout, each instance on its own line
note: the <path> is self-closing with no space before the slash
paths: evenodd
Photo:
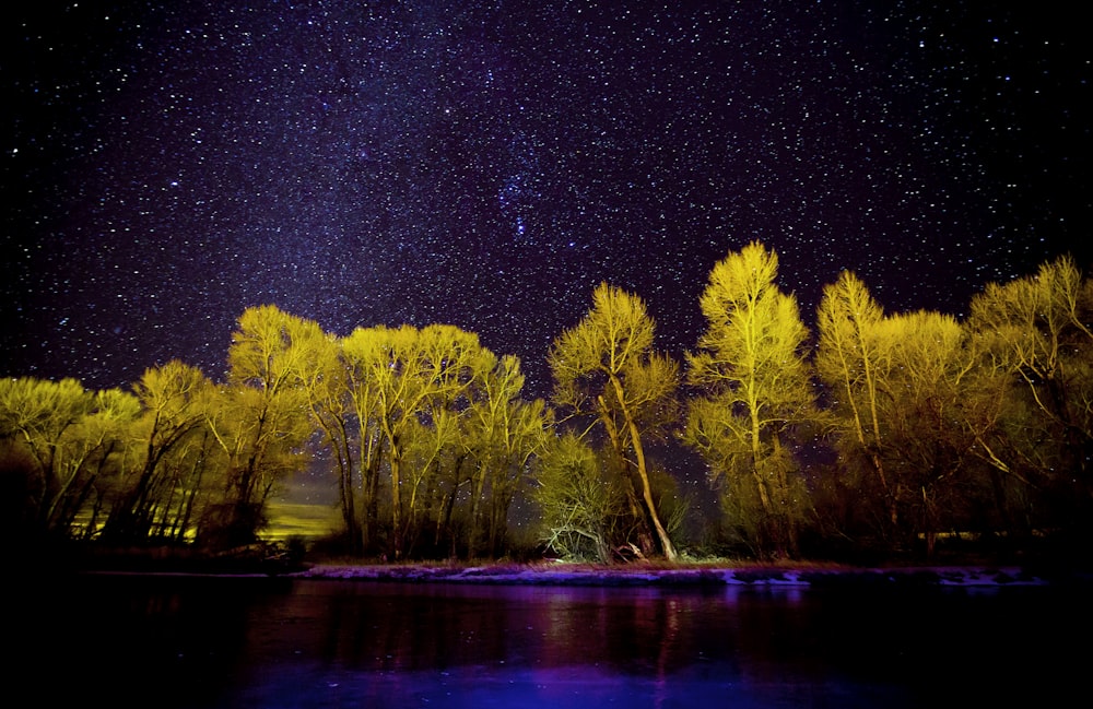
<path id="1" fill-rule="evenodd" d="M 675 548 L 657 509 L 643 436 L 656 435 L 674 405 L 678 366 L 653 350 L 655 323 L 637 296 L 603 283 L 592 308 L 563 332 L 549 355 L 554 402 L 572 415 L 591 415 L 628 473 L 640 515 L 659 552 Z"/>

